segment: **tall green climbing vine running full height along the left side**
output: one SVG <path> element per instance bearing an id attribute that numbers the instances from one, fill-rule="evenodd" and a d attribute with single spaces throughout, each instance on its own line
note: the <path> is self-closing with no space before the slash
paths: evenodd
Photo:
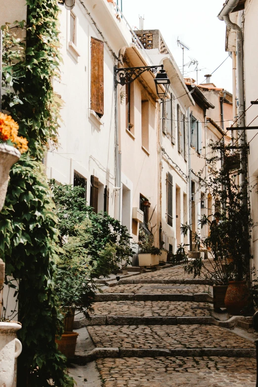
<path id="1" fill-rule="evenodd" d="M 2 109 L 19 124 L 29 146 L 10 172 L 0 214 L 0 257 L 6 274 L 19 280 L 18 386 L 70 387 L 66 358 L 55 344 L 62 330 L 53 289 L 57 218 L 42 165 L 44 152 L 57 143 L 60 100 L 51 83 L 60 61 L 57 2 L 27 0 L 27 20 L 2 30 Z"/>

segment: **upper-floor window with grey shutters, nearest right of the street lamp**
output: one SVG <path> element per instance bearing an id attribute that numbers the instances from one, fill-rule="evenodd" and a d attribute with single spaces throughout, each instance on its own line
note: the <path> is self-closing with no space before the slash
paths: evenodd
<path id="1" fill-rule="evenodd" d="M 175 144 L 174 95 L 171 93 L 171 99 L 167 99 L 162 105 L 162 130 L 168 138 L 171 138 L 172 144 Z"/>

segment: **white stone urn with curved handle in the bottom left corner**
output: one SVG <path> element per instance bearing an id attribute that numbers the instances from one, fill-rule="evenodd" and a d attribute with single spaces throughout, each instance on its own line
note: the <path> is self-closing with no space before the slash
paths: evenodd
<path id="1" fill-rule="evenodd" d="M 16 338 L 21 325 L 0 322 L 0 387 L 16 386 L 15 359 L 22 351 L 22 344 Z"/>

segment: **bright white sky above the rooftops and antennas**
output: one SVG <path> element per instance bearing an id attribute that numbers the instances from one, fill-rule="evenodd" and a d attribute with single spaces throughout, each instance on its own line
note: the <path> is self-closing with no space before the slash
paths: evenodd
<path id="1" fill-rule="evenodd" d="M 225 23 L 218 20 L 217 14 L 223 0 L 122 0 L 123 13 L 131 27 L 139 28 L 139 15 L 144 15 L 144 29 L 159 29 L 169 46 L 177 65 L 182 67 L 182 50 L 177 46 L 177 37 L 190 50 L 185 50 L 185 63 L 196 59 L 198 82 L 204 81 L 205 74 L 211 74 L 228 53 L 225 52 Z M 119 0 L 119 6 L 121 0 Z M 190 59 L 191 58 L 191 59 Z M 193 71 L 195 66 L 185 66 L 185 72 Z M 189 76 L 196 80 L 196 72 Z M 215 71 L 212 82 L 232 92 L 232 60 Z"/>

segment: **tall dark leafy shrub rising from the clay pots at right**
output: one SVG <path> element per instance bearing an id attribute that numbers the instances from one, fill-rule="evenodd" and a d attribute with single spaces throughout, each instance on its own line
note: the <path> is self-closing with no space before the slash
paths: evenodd
<path id="1" fill-rule="evenodd" d="M 214 148 L 216 149 L 217 146 L 218 144 L 215 144 Z M 202 251 L 202 248 L 208 250 L 213 259 L 202 261 L 197 258 L 188 261 L 185 258 L 185 271 L 193 274 L 194 278 L 203 276 L 216 285 L 227 285 L 230 280 L 250 282 L 249 232 L 254 224 L 250 217 L 248 191 L 254 187 L 250 186 L 247 180 L 240 183 L 240 175 L 243 171 L 233 169 L 231 149 L 228 147 L 221 147 L 221 149 L 222 167 L 217 168 L 218 163 L 221 163 L 221 154 L 214 152 L 212 158 L 206 159 L 210 167 L 208 178 L 203 179 L 202 171 L 199 173 L 202 191 L 212 195 L 216 203 L 221 206 L 220 209 L 215 208 L 215 213 L 220 215 L 219 219 L 212 221 L 204 215 L 199 223 L 201 228 L 209 226 L 209 235 L 201 237 L 198 232 L 191 234 L 198 250 Z M 246 157 L 247 149 L 244 151 L 244 157 Z M 239 151 L 235 152 L 234 158 L 237 157 L 239 157 Z M 184 236 L 190 230 L 190 225 L 181 226 Z M 181 253 L 179 250 L 177 254 Z"/>

